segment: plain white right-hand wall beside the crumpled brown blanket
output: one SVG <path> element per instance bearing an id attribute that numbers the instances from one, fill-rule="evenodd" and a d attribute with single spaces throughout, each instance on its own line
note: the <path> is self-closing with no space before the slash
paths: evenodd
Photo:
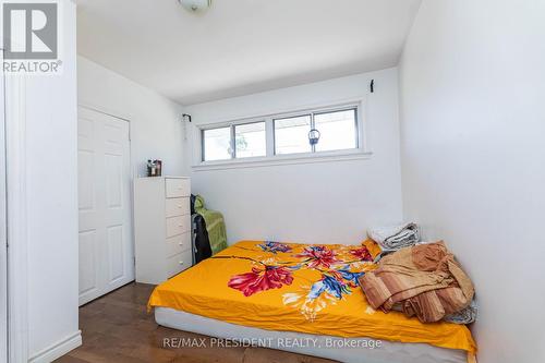
<path id="1" fill-rule="evenodd" d="M 404 213 L 472 277 L 481 363 L 545 362 L 544 14 L 424 0 L 400 65 Z"/>

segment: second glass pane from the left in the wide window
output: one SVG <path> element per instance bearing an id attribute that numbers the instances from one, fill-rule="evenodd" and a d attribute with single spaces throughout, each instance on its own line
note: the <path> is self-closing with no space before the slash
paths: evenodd
<path id="1" fill-rule="evenodd" d="M 235 125 L 234 146 L 237 158 L 266 156 L 265 121 Z"/>

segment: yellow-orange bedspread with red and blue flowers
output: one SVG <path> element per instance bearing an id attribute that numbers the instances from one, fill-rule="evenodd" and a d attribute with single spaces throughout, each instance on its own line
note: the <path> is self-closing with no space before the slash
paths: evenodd
<path id="1" fill-rule="evenodd" d="M 344 338 L 422 342 L 470 353 L 470 330 L 423 324 L 374 311 L 358 277 L 376 268 L 379 252 L 361 245 L 244 241 L 159 285 L 148 307 L 164 306 L 232 324 Z"/>

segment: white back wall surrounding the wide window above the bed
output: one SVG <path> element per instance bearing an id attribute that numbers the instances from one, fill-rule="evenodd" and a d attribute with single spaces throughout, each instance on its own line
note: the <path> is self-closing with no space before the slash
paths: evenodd
<path id="1" fill-rule="evenodd" d="M 371 78 L 375 78 L 375 93 L 367 96 Z M 397 70 L 186 108 L 193 122 L 199 124 L 351 98 L 365 99 L 371 159 L 192 173 L 193 192 L 202 194 L 209 208 L 223 213 L 230 243 L 242 239 L 270 239 L 354 244 L 365 238 L 370 225 L 399 221 Z"/>

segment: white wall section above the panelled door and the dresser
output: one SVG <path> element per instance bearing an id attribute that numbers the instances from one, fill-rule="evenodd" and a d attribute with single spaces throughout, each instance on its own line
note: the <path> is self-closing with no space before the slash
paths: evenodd
<path id="1" fill-rule="evenodd" d="M 77 101 L 131 121 L 134 176 L 145 174 L 147 159 L 161 159 L 164 174 L 187 173 L 179 104 L 81 56 Z"/>

